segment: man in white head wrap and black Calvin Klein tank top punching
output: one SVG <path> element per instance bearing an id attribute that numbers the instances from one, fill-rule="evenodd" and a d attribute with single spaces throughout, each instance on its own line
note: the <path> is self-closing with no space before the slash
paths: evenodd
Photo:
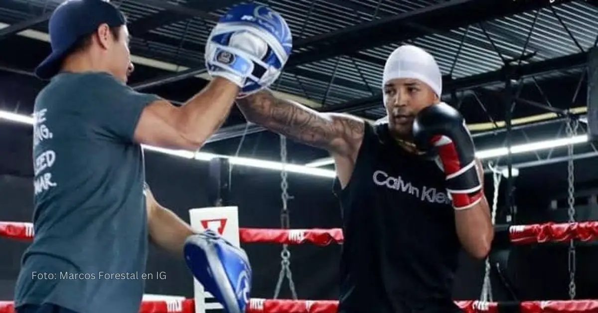
<path id="1" fill-rule="evenodd" d="M 261 90 L 237 101 L 247 120 L 328 150 L 335 162 L 344 244 L 339 312 L 459 311 L 457 254 L 477 259 L 493 227 L 483 172 L 458 111 L 440 102 L 431 54 L 403 45 L 383 73 L 388 120 L 318 113 Z"/>

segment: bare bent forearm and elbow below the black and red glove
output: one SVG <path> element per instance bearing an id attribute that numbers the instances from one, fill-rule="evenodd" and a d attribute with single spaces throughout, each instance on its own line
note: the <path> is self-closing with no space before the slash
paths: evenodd
<path id="1" fill-rule="evenodd" d="M 479 160 L 478 175 L 484 185 L 484 171 Z M 494 228 L 490 218 L 490 207 L 486 196 L 469 209 L 455 210 L 455 226 L 461 245 L 469 255 L 484 259 L 490 252 L 494 239 Z"/>

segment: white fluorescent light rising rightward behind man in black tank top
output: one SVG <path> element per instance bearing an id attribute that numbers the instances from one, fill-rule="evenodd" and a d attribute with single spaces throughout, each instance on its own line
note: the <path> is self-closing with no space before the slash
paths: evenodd
<path id="1" fill-rule="evenodd" d="M 572 138 L 559 138 L 550 139 L 545 141 L 530 142 L 529 144 L 514 145 L 511 147 L 511 154 L 520 154 L 530 151 L 545 150 L 550 148 L 563 147 L 569 144 L 582 144 L 588 141 L 587 135 L 573 136 Z M 475 156 L 479 159 L 490 159 L 492 157 L 506 156 L 508 154 L 507 147 L 493 148 L 488 150 L 480 150 L 475 153 Z M 318 168 L 321 166 L 332 165 L 334 160 L 332 158 L 319 159 L 313 162 L 307 163 L 305 166 L 308 168 Z"/>

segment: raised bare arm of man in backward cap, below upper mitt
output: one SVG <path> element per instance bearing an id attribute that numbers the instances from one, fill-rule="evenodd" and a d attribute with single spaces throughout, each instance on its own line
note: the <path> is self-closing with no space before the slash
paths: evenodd
<path id="1" fill-rule="evenodd" d="M 163 148 L 197 150 L 224 122 L 239 87 L 215 77 L 208 86 L 181 107 L 155 101 L 141 113 L 135 141 Z"/>

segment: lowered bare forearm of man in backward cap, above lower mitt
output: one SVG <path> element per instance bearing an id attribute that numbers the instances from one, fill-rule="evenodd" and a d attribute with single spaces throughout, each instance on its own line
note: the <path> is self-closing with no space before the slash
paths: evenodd
<path id="1" fill-rule="evenodd" d="M 151 190 L 145 190 L 145 203 L 148 211 L 149 239 L 163 250 L 182 256 L 183 245 L 193 229 L 178 215 L 155 200 Z"/>

